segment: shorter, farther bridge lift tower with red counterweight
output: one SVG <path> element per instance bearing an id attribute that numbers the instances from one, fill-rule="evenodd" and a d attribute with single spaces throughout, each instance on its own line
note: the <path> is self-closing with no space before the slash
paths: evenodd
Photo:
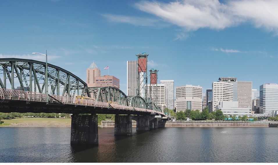
<path id="1" fill-rule="evenodd" d="M 151 69 L 150 71 L 150 99 L 157 106 L 157 74 L 158 70 Z"/>

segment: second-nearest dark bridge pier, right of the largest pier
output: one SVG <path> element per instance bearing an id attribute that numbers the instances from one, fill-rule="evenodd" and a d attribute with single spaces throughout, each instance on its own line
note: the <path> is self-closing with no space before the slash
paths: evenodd
<path id="1" fill-rule="evenodd" d="M 131 115 L 115 116 L 114 135 L 132 135 L 132 118 Z"/>

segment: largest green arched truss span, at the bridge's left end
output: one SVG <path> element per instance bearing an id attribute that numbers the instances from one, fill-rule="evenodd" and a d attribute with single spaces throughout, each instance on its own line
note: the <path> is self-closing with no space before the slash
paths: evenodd
<path id="1" fill-rule="evenodd" d="M 76 95 L 90 97 L 87 84 L 65 69 L 55 65 L 48 65 L 48 91 L 52 95 L 74 97 Z M 46 92 L 45 80 L 46 63 L 36 60 L 19 58 L 0 58 L 0 86 L 1 88 Z M 2 82 L 3 78 L 3 82 Z M 10 84 L 7 83 L 10 82 Z"/>

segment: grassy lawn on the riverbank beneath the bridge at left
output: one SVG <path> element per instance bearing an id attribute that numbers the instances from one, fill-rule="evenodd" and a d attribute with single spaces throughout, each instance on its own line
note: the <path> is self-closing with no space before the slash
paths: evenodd
<path id="1" fill-rule="evenodd" d="M 71 123 L 71 119 L 59 119 L 59 118 L 16 118 L 1 120 L 5 123 Z"/>

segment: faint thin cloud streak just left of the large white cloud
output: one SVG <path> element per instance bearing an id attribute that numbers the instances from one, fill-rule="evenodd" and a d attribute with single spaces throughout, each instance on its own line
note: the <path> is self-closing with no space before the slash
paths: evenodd
<path id="1" fill-rule="evenodd" d="M 111 22 L 129 23 L 135 26 L 154 26 L 158 22 L 157 19 L 144 18 L 144 17 L 131 17 L 124 15 L 102 14 Z"/>

